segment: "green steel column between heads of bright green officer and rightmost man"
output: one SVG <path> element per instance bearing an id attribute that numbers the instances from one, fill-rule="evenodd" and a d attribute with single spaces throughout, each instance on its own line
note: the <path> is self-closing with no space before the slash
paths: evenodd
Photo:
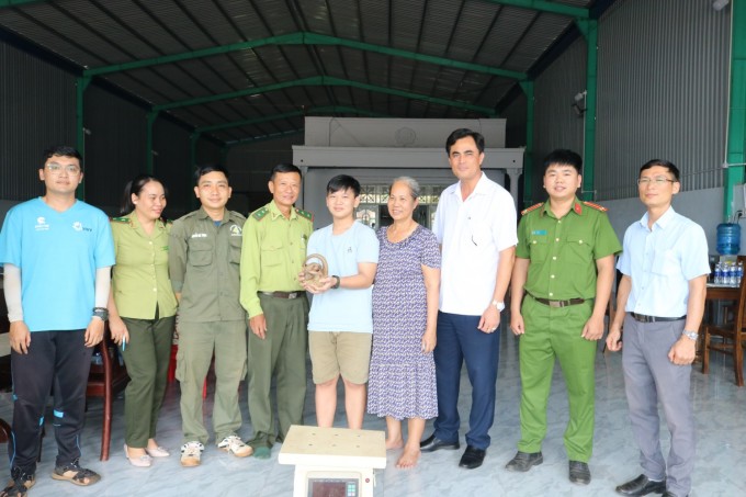
<path id="1" fill-rule="evenodd" d="M 576 19 L 575 23 L 586 38 L 588 52 L 586 61 L 586 112 L 584 115 L 585 136 L 583 138 L 583 200 L 596 197 L 596 101 L 598 84 L 598 21 L 595 19 Z"/>

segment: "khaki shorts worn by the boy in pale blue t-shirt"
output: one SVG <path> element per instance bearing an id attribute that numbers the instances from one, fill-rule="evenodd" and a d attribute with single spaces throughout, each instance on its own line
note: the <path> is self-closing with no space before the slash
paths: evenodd
<path id="1" fill-rule="evenodd" d="M 314 383 L 326 383 L 341 374 L 348 382 L 365 384 L 371 365 L 372 339 L 372 334 L 310 331 L 308 352 Z"/>

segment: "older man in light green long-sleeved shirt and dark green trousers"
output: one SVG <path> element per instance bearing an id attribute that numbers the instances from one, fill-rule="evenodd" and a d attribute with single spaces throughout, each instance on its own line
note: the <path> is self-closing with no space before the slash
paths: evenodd
<path id="1" fill-rule="evenodd" d="M 249 414 L 255 456 L 267 459 L 275 439 L 303 423 L 306 396 L 308 301 L 297 280 L 313 231 L 313 216 L 294 207 L 301 170 L 272 169 L 272 201 L 255 211 L 244 226 L 241 305 L 249 313 Z M 276 375 L 276 434 L 270 385 Z"/>

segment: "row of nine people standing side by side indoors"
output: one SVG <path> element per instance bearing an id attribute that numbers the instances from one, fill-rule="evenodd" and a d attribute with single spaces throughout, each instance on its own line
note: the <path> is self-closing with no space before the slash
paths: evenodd
<path id="1" fill-rule="evenodd" d="M 65 146 L 47 150 L 38 170 L 44 196 L 13 207 L 0 233 L 14 394 L 11 479 L 0 496 L 26 495 L 35 483 L 50 393 L 58 445 L 53 478 L 83 486 L 100 479 L 80 466 L 78 439 L 91 351 L 106 319 L 131 376 L 124 453 L 135 466 L 170 455 L 156 427 L 177 313 L 183 466 L 201 463 L 210 438 L 202 393 L 213 357 L 217 448 L 268 459 L 274 442 L 303 423 L 308 351 L 317 425 L 334 425 L 341 376 L 347 425 L 362 428 L 365 410 L 385 417 L 386 449 L 402 450 L 398 467 L 416 465 L 422 452 L 460 448 L 465 363 L 472 403 L 459 465 L 479 467 L 495 418 L 508 290 L 522 389 L 521 437 L 506 468 L 527 472 L 543 462 L 557 359 L 569 400 L 568 476 L 588 484 L 595 357 L 617 256 L 624 312 L 610 324 L 607 346 L 622 349 L 624 330 L 624 380 L 643 467 L 617 492 L 688 495 L 694 458 L 689 373 L 709 264 L 702 228 L 671 207 L 680 189 L 676 166 L 653 160 L 641 168 L 647 212 L 622 246 L 606 210 L 576 195 L 577 154 L 555 150 L 545 158 L 549 200 L 517 223 L 512 197 L 482 170 L 484 137 L 456 129 L 445 149 L 459 181 L 441 194 L 432 230 L 414 217 L 419 184 L 400 177 L 389 188 L 393 223 L 377 231 L 355 221 L 361 187 L 347 174 L 328 182 L 332 223 L 314 231 L 313 215 L 295 207 L 302 173 L 292 165 L 273 168 L 272 200 L 248 217 L 226 208 L 228 171 L 204 166 L 195 172 L 197 211 L 166 222 L 163 183 L 139 176 L 125 188 L 121 217 L 109 219 L 75 197 L 80 155 Z M 324 266 L 314 278 L 303 271 L 309 256 Z M 246 442 L 238 404 L 245 377 L 253 427 Z M 671 432 L 668 461 L 658 441 L 658 402 Z M 423 439 L 432 418 L 434 430 Z"/>

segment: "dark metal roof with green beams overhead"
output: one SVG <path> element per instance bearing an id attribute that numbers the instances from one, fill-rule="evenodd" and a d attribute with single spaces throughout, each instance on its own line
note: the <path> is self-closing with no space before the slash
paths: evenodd
<path id="1" fill-rule="evenodd" d="M 0 29 L 234 143 L 305 115 L 497 115 L 576 19 L 611 3 L 0 0 Z"/>

